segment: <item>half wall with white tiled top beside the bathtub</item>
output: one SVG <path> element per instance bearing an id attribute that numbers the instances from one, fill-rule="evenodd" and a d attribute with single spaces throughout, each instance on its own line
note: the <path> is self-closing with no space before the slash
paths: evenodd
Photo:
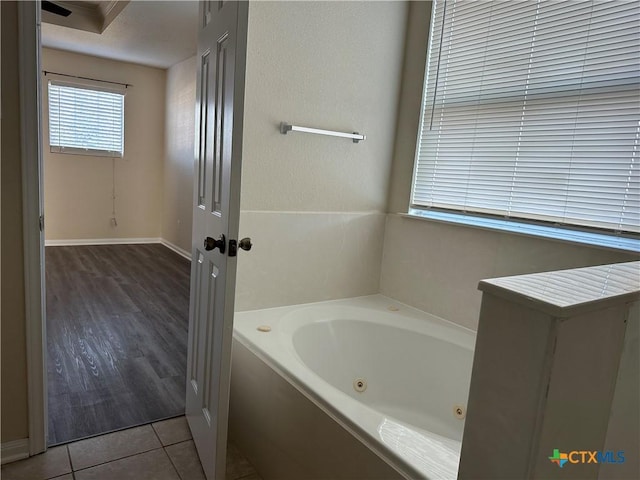
<path id="1" fill-rule="evenodd" d="M 479 289 L 458 478 L 636 478 L 640 262 L 483 280 Z M 560 468 L 554 449 L 626 457 Z"/>

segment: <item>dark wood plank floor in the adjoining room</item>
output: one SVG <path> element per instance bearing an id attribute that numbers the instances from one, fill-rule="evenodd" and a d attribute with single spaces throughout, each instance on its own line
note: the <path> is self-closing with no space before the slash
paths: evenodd
<path id="1" fill-rule="evenodd" d="M 49 445 L 184 414 L 189 261 L 46 248 Z"/>

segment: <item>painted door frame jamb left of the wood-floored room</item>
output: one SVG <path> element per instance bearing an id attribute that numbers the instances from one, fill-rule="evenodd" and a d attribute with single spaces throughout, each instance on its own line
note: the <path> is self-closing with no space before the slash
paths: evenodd
<path id="1" fill-rule="evenodd" d="M 40 1 L 17 2 L 29 455 L 47 449 Z M 33 94 L 35 92 L 35 95 Z M 44 226 L 43 226 L 44 228 Z M 26 452 L 25 452 L 26 453 Z"/>

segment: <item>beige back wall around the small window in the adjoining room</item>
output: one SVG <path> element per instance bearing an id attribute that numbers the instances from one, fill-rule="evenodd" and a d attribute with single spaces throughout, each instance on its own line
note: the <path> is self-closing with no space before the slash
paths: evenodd
<path id="1" fill-rule="evenodd" d="M 162 222 L 165 71 L 43 49 L 44 70 L 132 84 L 125 96 L 124 157 L 49 151 L 48 77 L 43 77 L 45 235 L 47 240 L 158 238 Z"/>

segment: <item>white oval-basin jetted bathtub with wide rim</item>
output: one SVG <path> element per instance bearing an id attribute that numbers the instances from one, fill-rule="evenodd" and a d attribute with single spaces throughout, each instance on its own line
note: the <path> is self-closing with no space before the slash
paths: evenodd
<path id="1" fill-rule="evenodd" d="M 401 476 L 456 478 L 474 332 L 373 295 L 237 313 L 234 339 Z"/>

